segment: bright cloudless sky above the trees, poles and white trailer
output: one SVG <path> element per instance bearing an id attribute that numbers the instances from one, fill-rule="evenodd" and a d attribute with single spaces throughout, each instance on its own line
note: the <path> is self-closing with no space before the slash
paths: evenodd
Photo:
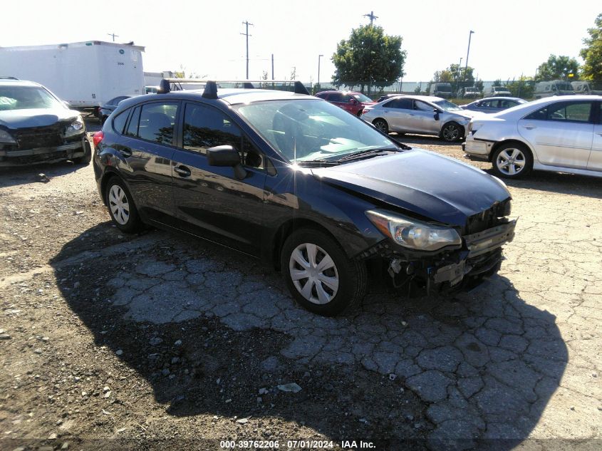
<path id="1" fill-rule="evenodd" d="M 185 68 L 187 75 L 245 78 L 243 21 L 249 21 L 249 78 L 330 81 L 331 56 L 351 28 L 375 24 L 403 37 L 404 81 L 428 81 L 462 59 L 473 30 L 469 66 L 482 80 L 532 76 L 550 53 L 578 58 L 602 1 L 2 1 L 0 46 L 77 41 L 134 41 L 145 71 Z M 581 61 L 580 58 L 578 58 Z M 0 68 L 1 72 L 1 68 Z"/>

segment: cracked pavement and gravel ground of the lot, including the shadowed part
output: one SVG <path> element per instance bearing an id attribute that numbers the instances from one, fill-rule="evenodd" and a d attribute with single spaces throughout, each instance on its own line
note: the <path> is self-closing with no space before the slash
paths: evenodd
<path id="1" fill-rule="evenodd" d="M 2 171 L 0 449 L 600 449 L 602 179 L 509 188 L 499 276 L 321 318 L 246 256 L 120 234 L 91 165 Z"/>

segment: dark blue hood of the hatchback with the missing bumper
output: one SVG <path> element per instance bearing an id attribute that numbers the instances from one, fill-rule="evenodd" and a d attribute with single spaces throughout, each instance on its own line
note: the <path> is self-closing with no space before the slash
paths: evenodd
<path id="1" fill-rule="evenodd" d="M 504 184 L 491 175 L 420 149 L 312 172 L 330 185 L 460 227 L 469 216 L 510 197 Z"/>

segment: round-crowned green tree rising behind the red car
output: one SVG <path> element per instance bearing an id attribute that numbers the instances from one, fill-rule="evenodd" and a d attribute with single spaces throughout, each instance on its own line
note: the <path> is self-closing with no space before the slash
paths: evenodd
<path id="1" fill-rule="evenodd" d="M 373 85 L 390 85 L 403 77 L 405 51 L 401 50 L 401 36 L 385 35 L 381 26 L 360 26 L 351 30 L 348 40 L 336 46 L 332 61 L 335 66 L 333 83 L 350 88 L 360 86 L 368 93 Z"/>

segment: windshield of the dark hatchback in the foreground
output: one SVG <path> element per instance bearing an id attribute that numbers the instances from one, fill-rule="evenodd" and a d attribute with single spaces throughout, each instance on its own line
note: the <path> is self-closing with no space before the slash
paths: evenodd
<path id="1" fill-rule="evenodd" d="M 238 112 L 291 162 L 338 160 L 398 145 L 370 125 L 328 102 L 271 100 L 240 105 Z"/>

